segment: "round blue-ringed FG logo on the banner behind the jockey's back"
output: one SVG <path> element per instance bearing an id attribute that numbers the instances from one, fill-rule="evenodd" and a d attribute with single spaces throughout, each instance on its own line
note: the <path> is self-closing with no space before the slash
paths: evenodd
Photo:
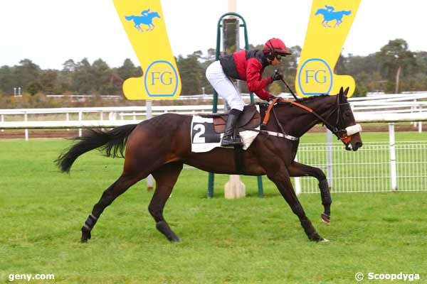
<path id="1" fill-rule="evenodd" d="M 178 72 L 169 61 L 154 61 L 145 71 L 144 87 L 149 97 L 174 97 L 178 82 Z"/>

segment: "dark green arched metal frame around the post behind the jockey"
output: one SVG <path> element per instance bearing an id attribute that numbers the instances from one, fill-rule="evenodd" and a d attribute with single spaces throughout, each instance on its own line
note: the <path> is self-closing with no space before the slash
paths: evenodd
<path id="1" fill-rule="evenodd" d="M 245 49 L 249 50 L 248 28 L 246 28 L 245 19 L 241 15 L 239 15 L 238 13 L 234 13 L 234 12 L 224 13 L 223 16 L 221 16 L 219 18 L 218 25 L 216 28 L 216 53 L 215 53 L 215 59 L 216 60 L 219 59 L 219 53 L 221 50 L 221 28 L 223 27 L 221 21 L 226 16 L 236 16 L 236 17 L 241 19 L 242 23 L 239 25 L 239 28 L 243 27 L 243 32 L 245 35 Z M 253 104 L 253 103 L 255 103 L 255 99 L 253 99 L 253 93 L 251 93 L 251 104 Z M 218 93 L 215 91 L 215 89 L 214 89 L 214 99 L 213 99 L 212 105 L 213 105 L 212 112 L 215 114 L 216 112 L 218 112 Z M 214 178 L 215 178 L 214 173 L 209 173 L 208 198 L 214 197 Z M 264 196 L 263 178 L 261 176 L 258 176 L 257 180 L 258 180 L 258 195 L 259 195 L 259 197 L 263 197 Z"/>

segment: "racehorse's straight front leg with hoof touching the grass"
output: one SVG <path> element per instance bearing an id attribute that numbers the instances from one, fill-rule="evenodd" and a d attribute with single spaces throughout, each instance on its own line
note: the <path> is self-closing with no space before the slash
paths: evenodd
<path id="1" fill-rule="evenodd" d="M 279 170 L 272 170 L 271 173 L 267 173 L 267 176 L 275 183 L 280 194 L 285 198 L 286 202 L 288 202 L 292 212 L 294 212 L 294 214 L 300 219 L 301 226 L 304 229 L 305 234 L 307 234 L 308 239 L 310 239 L 310 241 L 324 241 L 325 239 L 317 234 L 312 222 L 310 222 L 305 215 L 304 209 L 302 209 L 302 205 L 300 204 L 297 195 L 295 195 L 292 183 L 290 182 L 288 169 L 283 166 L 280 167 Z"/>

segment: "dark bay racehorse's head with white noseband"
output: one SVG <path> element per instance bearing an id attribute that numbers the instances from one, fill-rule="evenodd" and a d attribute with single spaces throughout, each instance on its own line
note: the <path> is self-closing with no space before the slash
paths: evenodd
<path id="1" fill-rule="evenodd" d="M 348 92 L 348 87 L 345 91 L 342 87 L 339 89 L 336 107 L 326 120 L 334 128 L 330 129 L 330 131 L 344 143 L 346 150 L 357 151 L 362 147 L 362 137 L 360 136 L 362 126 L 356 124 L 354 120 L 352 108 L 347 102 Z"/>

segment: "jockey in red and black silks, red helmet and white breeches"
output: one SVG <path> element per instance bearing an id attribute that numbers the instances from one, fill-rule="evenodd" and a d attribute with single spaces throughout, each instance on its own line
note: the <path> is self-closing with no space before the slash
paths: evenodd
<path id="1" fill-rule="evenodd" d="M 279 65 L 282 57 L 290 54 L 290 50 L 282 40 L 271 38 L 267 40 L 263 50 L 237 51 L 231 55 L 224 55 L 209 65 L 206 69 L 206 78 L 231 109 L 221 146 L 242 145 L 240 137 L 233 138 L 233 133 L 245 104 L 231 79 L 246 81 L 249 92 L 254 92 L 260 99 L 268 101 L 273 95 L 264 88 L 275 80 L 283 79 L 283 75 L 275 72 L 272 77 L 263 79 L 264 69 L 268 65 Z"/>

